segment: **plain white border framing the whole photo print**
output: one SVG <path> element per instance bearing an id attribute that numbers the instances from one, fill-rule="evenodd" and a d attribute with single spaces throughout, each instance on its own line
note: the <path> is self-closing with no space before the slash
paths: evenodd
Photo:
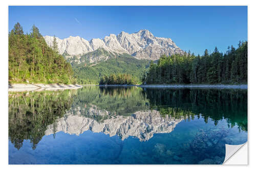
<path id="1" fill-rule="evenodd" d="M 255 93 L 255 68 L 256 68 L 256 55 L 255 55 L 255 1 L 224 1 L 224 0 L 215 0 L 215 1 L 203 1 L 203 0 L 176 0 L 176 1 L 136 1 L 136 0 L 129 0 L 123 1 L 120 0 L 108 0 L 108 1 L 17 1 L 17 0 L 10 0 L 10 1 L 2 1 L 1 2 L 1 108 L 3 108 L 1 114 L 1 130 L 2 130 L 2 139 L 1 139 L 1 167 L 3 169 L 6 168 L 19 168 L 19 169 L 45 169 L 45 168 L 61 168 L 61 169 L 70 169 L 70 168 L 104 168 L 105 169 L 131 169 L 131 168 L 147 168 L 147 169 L 170 169 L 170 168 L 189 168 L 189 169 L 215 169 L 216 168 L 232 168 L 241 170 L 244 168 L 255 166 L 255 154 L 253 151 L 255 149 L 255 100 L 253 97 L 256 96 Z M 248 166 L 235 166 L 235 165 L 8 165 L 8 5 L 248 5 L 248 145 L 249 145 L 249 165 Z M 254 127 L 253 127 L 254 126 Z M 252 133 L 250 133 L 252 131 Z M 241 155 L 242 156 L 242 155 Z M 255 169 L 255 167 L 254 167 Z"/>

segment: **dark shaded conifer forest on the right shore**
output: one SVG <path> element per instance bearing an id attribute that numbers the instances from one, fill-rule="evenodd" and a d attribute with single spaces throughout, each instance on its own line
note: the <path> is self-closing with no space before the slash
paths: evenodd
<path id="1" fill-rule="evenodd" d="M 240 41 L 237 49 L 228 47 L 224 55 L 217 47 L 212 54 L 205 50 L 203 56 L 163 55 L 157 64 L 151 62 L 142 81 L 146 84 L 247 83 L 247 41 Z"/>

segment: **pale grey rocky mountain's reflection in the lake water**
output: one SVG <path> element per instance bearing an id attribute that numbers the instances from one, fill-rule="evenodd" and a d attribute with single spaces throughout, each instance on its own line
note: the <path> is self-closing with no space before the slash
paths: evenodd
<path id="1" fill-rule="evenodd" d="M 79 109 L 78 109 L 79 110 Z M 93 115 L 107 116 L 108 111 L 98 110 L 92 107 L 89 112 Z M 175 119 L 166 115 L 162 117 L 159 111 L 137 111 L 132 116 L 112 116 L 97 122 L 90 117 L 84 117 L 77 111 L 76 114 L 67 113 L 66 116 L 59 118 L 55 125 L 50 125 L 45 132 L 50 135 L 55 132 L 63 131 L 69 134 L 82 134 L 84 131 L 103 132 L 110 136 L 118 135 L 122 140 L 129 136 L 139 138 L 140 141 L 146 141 L 153 137 L 155 133 L 170 133 L 183 118 Z"/>

